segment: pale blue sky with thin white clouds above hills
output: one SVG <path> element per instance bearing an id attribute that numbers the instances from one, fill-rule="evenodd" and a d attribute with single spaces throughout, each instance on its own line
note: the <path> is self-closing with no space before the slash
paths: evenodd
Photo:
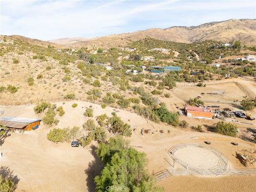
<path id="1" fill-rule="evenodd" d="M 254 0 L 1 0 L 1 35 L 44 41 L 255 19 Z"/>

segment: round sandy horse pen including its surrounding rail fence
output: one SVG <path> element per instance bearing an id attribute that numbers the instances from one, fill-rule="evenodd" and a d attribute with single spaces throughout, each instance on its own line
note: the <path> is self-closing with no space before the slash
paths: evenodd
<path id="1" fill-rule="evenodd" d="M 173 166 L 179 163 L 188 170 L 200 174 L 221 174 L 226 171 L 228 159 L 220 151 L 211 147 L 199 146 L 197 143 L 187 143 L 173 146 L 169 149 Z"/>

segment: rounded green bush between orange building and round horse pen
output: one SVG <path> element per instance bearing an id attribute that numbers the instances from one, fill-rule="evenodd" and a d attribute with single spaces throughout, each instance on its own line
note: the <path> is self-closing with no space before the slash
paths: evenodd
<path id="1" fill-rule="evenodd" d="M 236 137 L 238 127 L 232 123 L 218 122 L 214 127 L 215 131 L 220 134 Z"/>

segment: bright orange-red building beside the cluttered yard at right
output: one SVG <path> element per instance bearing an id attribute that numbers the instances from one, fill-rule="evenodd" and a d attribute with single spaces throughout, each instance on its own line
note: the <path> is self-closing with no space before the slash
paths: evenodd
<path id="1" fill-rule="evenodd" d="M 185 107 L 185 114 L 192 118 L 212 119 L 214 117 L 214 114 L 211 112 L 211 110 L 207 109 L 206 107 L 187 106 Z"/>

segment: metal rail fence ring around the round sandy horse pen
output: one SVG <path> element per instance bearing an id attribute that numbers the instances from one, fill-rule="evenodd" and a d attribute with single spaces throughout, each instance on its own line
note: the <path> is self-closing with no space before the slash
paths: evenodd
<path id="1" fill-rule="evenodd" d="M 175 151 L 177 151 L 181 148 L 185 148 L 187 146 L 203 147 L 205 149 L 208 149 L 208 150 L 212 151 L 215 155 L 217 155 L 219 157 L 218 164 L 213 166 L 213 167 L 210 167 L 209 169 L 200 169 L 198 167 L 194 167 L 194 166 L 182 161 L 181 159 L 177 158 L 175 156 Z M 177 162 L 180 165 L 184 166 L 186 168 L 186 170 L 192 170 L 192 171 L 195 171 L 195 172 L 197 172 L 198 174 L 201 174 L 201 175 L 204 175 L 204 174 L 215 174 L 215 175 L 222 174 L 223 172 L 226 171 L 227 165 L 228 165 L 228 159 L 220 151 L 218 151 L 216 149 L 213 149 L 212 147 L 200 146 L 198 143 L 186 143 L 186 144 L 175 145 L 175 146 L 171 147 L 168 150 L 168 154 L 173 159 L 173 163 Z"/>

